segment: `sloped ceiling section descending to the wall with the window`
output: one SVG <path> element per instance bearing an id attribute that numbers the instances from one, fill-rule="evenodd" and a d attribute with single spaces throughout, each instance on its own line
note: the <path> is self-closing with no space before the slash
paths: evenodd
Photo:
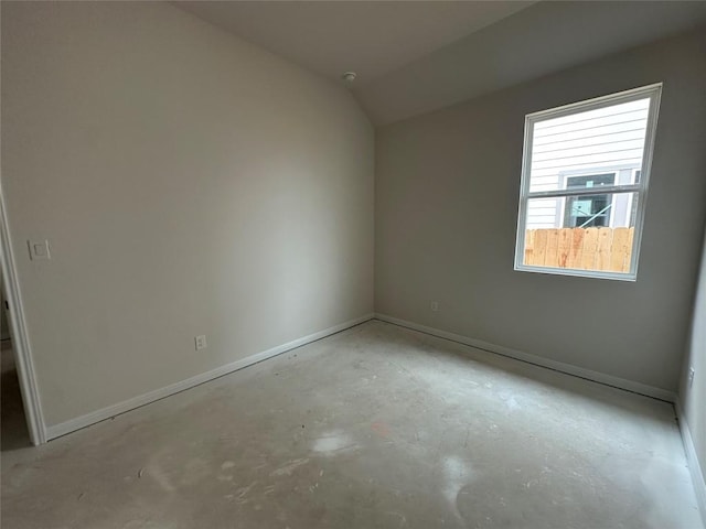
<path id="1" fill-rule="evenodd" d="M 542 2 L 354 93 L 384 125 L 704 23 L 706 2 Z"/>

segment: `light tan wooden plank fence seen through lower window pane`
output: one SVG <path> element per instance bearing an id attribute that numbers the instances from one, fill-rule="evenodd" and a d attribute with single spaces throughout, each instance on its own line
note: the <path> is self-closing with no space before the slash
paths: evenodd
<path id="1" fill-rule="evenodd" d="M 629 272 L 634 228 L 528 229 L 525 264 Z"/>

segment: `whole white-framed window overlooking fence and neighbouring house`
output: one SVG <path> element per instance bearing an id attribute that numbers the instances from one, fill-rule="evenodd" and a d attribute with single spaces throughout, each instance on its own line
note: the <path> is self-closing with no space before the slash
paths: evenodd
<path id="1" fill-rule="evenodd" d="M 661 91 L 525 117 L 515 270 L 637 278 Z"/>

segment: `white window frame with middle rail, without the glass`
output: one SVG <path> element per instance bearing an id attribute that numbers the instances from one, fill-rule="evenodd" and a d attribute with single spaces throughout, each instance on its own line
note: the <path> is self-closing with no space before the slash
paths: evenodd
<path id="1" fill-rule="evenodd" d="M 576 276 L 581 278 L 613 279 L 620 281 L 637 281 L 640 246 L 642 242 L 642 228 L 644 224 L 644 212 L 648 202 L 648 190 L 650 173 L 652 169 L 652 154 L 654 152 L 654 139 L 656 136 L 657 116 L 660 111 L 660 98 L 662 95 L 662 83 L 642 86 L 631 90 L 610 94 L 595 99 L 588 99 L 563 107 L 542 110 L 525 116 L 525 138 L 522 155 L 522 181 L 520 185 L 520 207 L 517 212 L 517 235 L 515 241 L 515 270 L 522 272 L 539 272 L 556 276 Z M 527 223 L 527 204 L 531 198 L 561 198 L 566 196 L 578 196 L 588 194 L 586 190 L 566 190 L 530 192 L 530 172 L 532 169 L 532 141 L 534 126 L 547 119 L 570 116 L 587 110 L 610 107 L 637 99 L 650 99 L 648 111 L 648 123 L 645 129 L 644 151 L 642 153 L 642 166 L 639 184 L 617 184 L 612 186 L 601 186 L 601 193 L 635 193 L 638 198 L 638 212 L 635 218 L 633 248 L 629 272 L 612 272 L 601 270 L 577 270 L 554 267 L 542 267 L 536 264 L 524 264 L 525 255 L 525 226 Z M 634 181 L 633 181 L 634 182 Z M 632 195 L 633 197 L 635 195 Z"/>

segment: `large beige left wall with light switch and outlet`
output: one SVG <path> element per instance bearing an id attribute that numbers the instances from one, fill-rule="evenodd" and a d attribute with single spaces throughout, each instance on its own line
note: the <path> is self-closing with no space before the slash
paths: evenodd
<path id="1" fill-rule="evenodd" d="M 343 88 L 167 3 L 2 2 L 47 425 L 371 312 L 373 138 Z"/>

